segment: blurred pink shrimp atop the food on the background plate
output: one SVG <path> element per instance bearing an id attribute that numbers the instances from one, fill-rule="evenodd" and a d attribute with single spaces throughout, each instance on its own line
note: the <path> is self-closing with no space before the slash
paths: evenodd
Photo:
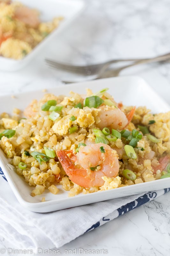
<path id="1" fill-rule="evenodd" d="M 15 17 L 32 28 L 36 28 L 40 24 L 38 12 L 26 6 L 17 6 Z"/>

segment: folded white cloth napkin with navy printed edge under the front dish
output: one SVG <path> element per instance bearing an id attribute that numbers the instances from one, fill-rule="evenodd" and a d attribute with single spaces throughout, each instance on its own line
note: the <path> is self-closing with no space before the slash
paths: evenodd
<path id="1" fill-rule="evenodd" d="M 145 204 L 170 189 L 161 189 L 87 204 L 57 212 L 30 212 L 21 206 L 0 170 L 0 233 L 15 248 L 58 248 L 76 237 Z"/>

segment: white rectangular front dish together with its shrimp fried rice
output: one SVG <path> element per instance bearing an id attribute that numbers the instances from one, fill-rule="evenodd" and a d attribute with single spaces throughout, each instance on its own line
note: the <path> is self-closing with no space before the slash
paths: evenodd
<path id="1" fill-rule="evenodd" d="M 51 212 L 169 187 L 170 107 L 143 79 L 0 100 L 0 166 L 27 209 Z"/>

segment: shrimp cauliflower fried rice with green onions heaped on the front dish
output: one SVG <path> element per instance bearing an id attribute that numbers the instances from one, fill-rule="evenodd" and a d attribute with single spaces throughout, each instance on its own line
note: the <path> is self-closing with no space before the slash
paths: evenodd
<path id="1" fill-rule="evenodd" d="M 106 89 L 45 94 L 24 115 L 17 108 L 13 116 L 2 113 L 0 139 L 15 171 L 33 188 L 31 196 L 45 189 L 57 194 L 59 184 L 75 196 L 169 177 L 170 111 L 117 104 Z"/>

